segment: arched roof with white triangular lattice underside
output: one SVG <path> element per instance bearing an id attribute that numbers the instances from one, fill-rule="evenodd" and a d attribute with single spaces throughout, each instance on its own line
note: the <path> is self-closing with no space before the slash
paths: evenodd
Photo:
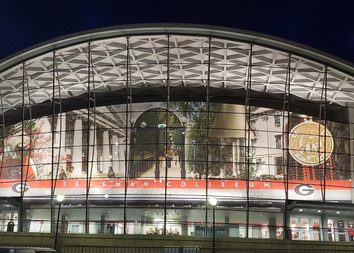
<path id="1" fill-rule="evenodd" d="M 290 82 L 292 100 L 354 105 L 352 63 L 289 40 L 226 27 L 100 28 L 46 41 L 0 62 L 4 111 L 22 106 L 23 94 L 24 105 L 84 98 L 90 82 L 95 83 L 95 96 L 105 101 L 126 94 L 127 83 L 137 97 L 165 95 L 167 80 L 169 95 L 194 95 L 196 100 L 209 83 L 210 95 L 242 103 L 238 98 L 244 98 L 247 82 L 252 97 L 283 100 Z"/>

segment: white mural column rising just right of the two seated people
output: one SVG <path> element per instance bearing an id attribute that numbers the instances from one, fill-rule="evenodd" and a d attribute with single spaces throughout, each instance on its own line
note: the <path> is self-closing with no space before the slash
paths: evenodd
<path id="1" fill-rule="evenodd" d="M 74 147 L 72 151 L 72 166 L 75 174 L 82 174 L 82 119 L 76 118 L 74 126 Z"/>

